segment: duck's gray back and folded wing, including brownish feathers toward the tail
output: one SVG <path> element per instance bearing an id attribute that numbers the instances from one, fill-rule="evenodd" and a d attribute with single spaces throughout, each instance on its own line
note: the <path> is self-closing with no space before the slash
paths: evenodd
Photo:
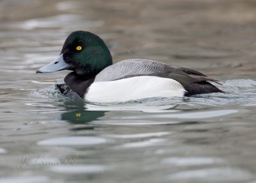
<path id="1" fill-rule="evenodd" d="M 189 68 L 172 67 L 164 63 L 152 60 L 124 60 L 115 63 L 102 70 L 95 77 L 97 81 L 116 81 L 136 76 L 157 76 L 175 79 L 184 87 L 191 83 L 213 81 L 220 84 L 218 80 L 205 76 L 201 72 Z"/>

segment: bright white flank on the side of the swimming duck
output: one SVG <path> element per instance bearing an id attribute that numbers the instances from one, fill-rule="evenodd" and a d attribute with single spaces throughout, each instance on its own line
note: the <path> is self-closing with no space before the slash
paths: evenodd
<path id="1" fill-rule="evenodd" d="M 84 97 L 90 102 L 126 102 L 150 97 L 182 97 L 183 86 L 173 79 L 138 76 L 92 83 Z"/>

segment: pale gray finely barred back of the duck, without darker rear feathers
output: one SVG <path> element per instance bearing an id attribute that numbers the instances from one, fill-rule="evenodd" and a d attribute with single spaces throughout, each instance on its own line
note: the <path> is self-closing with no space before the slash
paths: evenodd
<path id="1" fill-rule="evenodd" d="M 131 59 L 123 60 L 104 68 L 95 77 L 95 82 L 115 81 L 134 76 L 168 76 L 173 67 L 152 60 Z"/>

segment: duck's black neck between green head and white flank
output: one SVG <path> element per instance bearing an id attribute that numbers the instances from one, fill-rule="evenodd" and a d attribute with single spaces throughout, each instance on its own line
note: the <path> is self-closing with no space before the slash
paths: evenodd
<path id="1" fill-rule="evenodd" d="M 86 93 L 86 90 L 93 83 L 96 75 L 97 74 L 81 76 L 76 74 L 76 72 L 70 72 L 64 78 L 64 81 L 66 84 L 68 84 L 68 86 L 70 86 L 71 90 L 76 92 L 83 99 L 84 93 Z"/>

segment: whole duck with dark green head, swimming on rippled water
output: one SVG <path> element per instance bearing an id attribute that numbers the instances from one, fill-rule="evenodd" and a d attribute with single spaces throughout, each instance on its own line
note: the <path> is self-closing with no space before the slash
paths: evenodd
<path id="1" fill-rule="evenodd" d="M 88 102 L 127 102 L 152 97 L 190 97 L 202 93 L 225 93 L 219 80 L 190 68 L 173 67 L 146 59 L 113 64 L 104 40 L 89 31 L 72 32 L 60 56 L 36 73 L 71 70 L 56 88 L 64 95 Z"/>

